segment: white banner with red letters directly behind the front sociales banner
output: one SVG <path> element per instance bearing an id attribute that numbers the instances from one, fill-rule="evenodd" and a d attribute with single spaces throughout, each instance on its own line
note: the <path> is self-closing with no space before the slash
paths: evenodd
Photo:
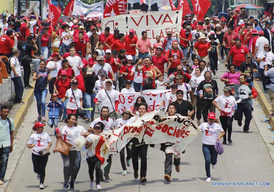
<path id="1" fill-rule="evenodd" d="M 170 90 L 156 90 L 148 89 L 143 93 L 120 93 L 118 95 L 119 104 L 118 111 L 123 113 L 125 109 L 132 109 L 137 97 L 143 96 L 146 99 L 146 103 L 151 111 L 157 110 L 156 107 L 160 105 L 165 93 Z"/>

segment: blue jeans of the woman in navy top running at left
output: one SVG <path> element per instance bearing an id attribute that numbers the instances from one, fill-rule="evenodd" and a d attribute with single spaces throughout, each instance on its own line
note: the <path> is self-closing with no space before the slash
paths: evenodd
<path id="1" fill-rule="evenodd" d="M 46 97 L 47 89 L 34 89 L 34 95 L 36 97 L 38 115 L 45 116 L 46 112 Z"/>

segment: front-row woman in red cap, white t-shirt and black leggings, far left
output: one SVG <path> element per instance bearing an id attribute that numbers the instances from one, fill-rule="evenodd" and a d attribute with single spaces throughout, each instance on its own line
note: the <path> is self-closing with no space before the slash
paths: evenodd
<path id="1" fill-rule="evenodd" d="M 46 124 L 43 124 L 41 122 L 35 123 L 33 126 L 33 130 L 36 131 L 36 133 L 33 133 L 29 140 L 28 140 L 28 148 L 32 148 L 32 163 L 33 163 L 33 170 L 35 173 L 37 173 L 37 179 L 40 180 L 40 189 L 44 189 L 44 180 L 46 176 L 46 165 L 48 156 L 42 157 L 39 154 L 39 151 L 41 150 L 49 150 L 51 147 L 51 138 L 50 136 L 43 132 L 44 126 Z"/>

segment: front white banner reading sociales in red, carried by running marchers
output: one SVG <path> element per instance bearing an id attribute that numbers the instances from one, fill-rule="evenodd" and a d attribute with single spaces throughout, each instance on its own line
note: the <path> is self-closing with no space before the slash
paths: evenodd
<path id="1" fill-rule="evenodd" d="M 124 125 L 118 130 L 101 133 L 106 138 L 110 154 L 117 154 L 132 140 L 138 139 L 145 144 L 168 144 L 166 153 L 180 157 L 188 145 L 201 133 L 198 125 L 184 116 L 169 116 L 160 119 L 160 113 L 147 113 L 131 125 Z M 109 138 L 109 139 L 107 139 Z M 135 140 L 136 140 L 135 139 Z"/>

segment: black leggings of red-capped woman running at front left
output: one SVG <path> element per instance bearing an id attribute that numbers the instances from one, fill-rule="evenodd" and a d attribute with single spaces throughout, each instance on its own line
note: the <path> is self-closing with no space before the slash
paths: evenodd
<path id="1" fill-rule="evenodd" d="M 40 174 L 40 184 L 44 184 L 48 156 L 42 157 L 41 155 L 35 155 L 34 153 L 32 153 L 31 159 L 34 172 Z"/>

